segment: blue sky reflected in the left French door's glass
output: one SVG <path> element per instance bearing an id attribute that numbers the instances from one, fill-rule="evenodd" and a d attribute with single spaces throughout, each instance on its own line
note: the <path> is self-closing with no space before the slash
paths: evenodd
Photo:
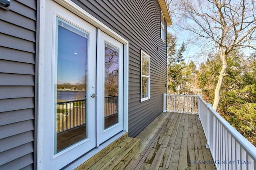
<path id="1" fill-rule="evenodd" d="M 57 83 L 79 83 L 86 73 L 88 39 L 63 27 L 58 28 Z"/>

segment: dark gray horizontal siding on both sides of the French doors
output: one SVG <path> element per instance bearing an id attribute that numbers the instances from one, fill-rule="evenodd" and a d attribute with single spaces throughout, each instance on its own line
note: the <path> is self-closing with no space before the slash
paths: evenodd
<path id="1" fill-rule="evenodd" d="M 162 112 L 166 93 L 158 0 L 72 1 L 129 41 L 129 136 L 135 137 Z M 0 170 L 33 169 L 36 160 L 37 3 L 12 0 L 10 10 L 0 8 Z M 141 50 L 151 61 L 150 100 L 144 102 Z"/>

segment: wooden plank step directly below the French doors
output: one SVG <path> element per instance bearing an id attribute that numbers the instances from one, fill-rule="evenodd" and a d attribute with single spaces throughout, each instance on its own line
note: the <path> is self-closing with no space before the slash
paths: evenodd
<path id="1" fill-rule="evenodd" d="M 120 170 L 130 162 L 139 149 L 140 139 L 121 137 L 84 162 L 76 170 Z"/>

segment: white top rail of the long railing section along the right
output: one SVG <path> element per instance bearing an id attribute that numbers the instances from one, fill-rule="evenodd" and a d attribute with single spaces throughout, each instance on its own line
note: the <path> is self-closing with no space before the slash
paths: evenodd
<path id="1" fill-rule="evenodd" d="M 226 128 L 226 130 L 234 137 L 234 139 L 240 144 L 240 146 L 256 160 L 256 147 L 252 145 L 245 137 L 243 137 L 232 125 L 230 125 L 219 113 L 217 113 L 212 107 L 208 106 L 208 109 L 214 114 L 214 116 L 220 121 L 220 123 Z"/>

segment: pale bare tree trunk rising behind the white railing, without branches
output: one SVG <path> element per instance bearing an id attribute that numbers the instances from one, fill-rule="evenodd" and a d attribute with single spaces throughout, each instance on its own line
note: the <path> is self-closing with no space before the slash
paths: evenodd
<path id="1" fill-rule="evenodd" d="M 227 75 L 226 71 L 228 68 L 227 55 L 225 52 L 220 53 L 220 57 L 222 59 L 222 69 L 220 71 L 218 83 L 216 84 L 215 92 L 214 92 L 214 102 L 212 108 L 217 111 L 220 104 L 220 91 L 222 88 L 224 77 Z"/>

